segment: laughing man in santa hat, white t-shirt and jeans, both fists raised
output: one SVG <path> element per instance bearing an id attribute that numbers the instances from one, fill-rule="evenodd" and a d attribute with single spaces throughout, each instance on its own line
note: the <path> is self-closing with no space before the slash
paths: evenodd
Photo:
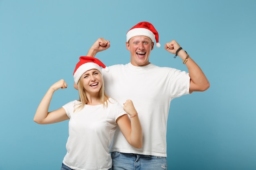
<path id="1" fill-rule="evenodd" d="M 155 40 L 156 46 L 160 46 L 158 36 L 149 22 L 136 24 L 126 35 L 126 49 L 130 51 L 131 62 L 109 66 L 108 71 L 102 71 L 107 94 L 119 103 L 131 99 L 143 130 L 140 149 L 130 146 L 120 130 L 116 131 L 111 146 L 113 170 L 167 169 L 166 128 L 171 100 L 193 91 L 205 91 L 210 86 L 200 67 L 175 40 L 166 43 L 164 49 L 178 55 L 189 73 L 150 63 L 150 51 Z M 99 38 L 87 56 L 94 57 L 109 47 L 108 40 Z"/>

